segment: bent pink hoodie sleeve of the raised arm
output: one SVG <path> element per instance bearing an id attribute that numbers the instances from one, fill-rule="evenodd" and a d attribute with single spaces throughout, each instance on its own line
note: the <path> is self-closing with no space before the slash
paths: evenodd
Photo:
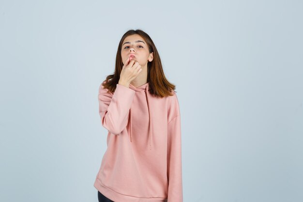
<path id="1" fill-rule="evenodd" d="M 103 85 L 99 87 L 99 114 L 102 125 L 111 133 L 119 135 L 128 122 L 135 91 L 117 84 L 114 93 L 107 93 Z"/>

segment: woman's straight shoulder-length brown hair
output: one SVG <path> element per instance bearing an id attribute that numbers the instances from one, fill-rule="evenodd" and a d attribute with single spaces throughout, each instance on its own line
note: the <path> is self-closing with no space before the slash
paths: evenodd
<path id="1" fill-rule="evenodd" d="M 108 75 L 103 81 L 105 82 L 103 84 L 104 88 L 108 89 L 108 92 L 110 93 L 115 92 L 123 67 L 123 62 L 121 58 L 122 43 L 127 36 L 133 34 L 140 35 L 146 41 L 147 46 L 149 48 L 149 52 L 153 52 L 152 62 L 147 63 L 147 82 L 149 82 L 150 93 L 154 96 L 158 96 L 161 98 L 168 95 L 173 95 L 172 91 L 175 91 L 176 86 L 170 83 L 165 77 L 159 53 L 154 43 L 152 42 L 151 37 L 140 29 L 126 31 L 122 36 L 117 50 L 114 74 Z"/>

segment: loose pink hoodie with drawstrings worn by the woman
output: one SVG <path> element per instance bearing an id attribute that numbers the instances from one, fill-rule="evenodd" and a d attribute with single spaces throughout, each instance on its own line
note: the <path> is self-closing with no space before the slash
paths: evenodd
<path id="1" fill-rule="evenodd" d="M 181 117 L 177 94 L 158 98 L 149 83 L 114 93 L 100 85 L 107 149 L 94 187 L 114 202 L 183 202 Z"/>

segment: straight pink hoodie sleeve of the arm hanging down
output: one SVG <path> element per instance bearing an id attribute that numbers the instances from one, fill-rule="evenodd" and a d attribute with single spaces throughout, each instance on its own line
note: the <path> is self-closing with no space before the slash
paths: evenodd
<path id="1" fill-rule="evenodd" d="M 183 202 L 182 192 L 182 150 L 181 150 L 181 116 L 178 112 L 167 124 L 167 202 Z"/>

